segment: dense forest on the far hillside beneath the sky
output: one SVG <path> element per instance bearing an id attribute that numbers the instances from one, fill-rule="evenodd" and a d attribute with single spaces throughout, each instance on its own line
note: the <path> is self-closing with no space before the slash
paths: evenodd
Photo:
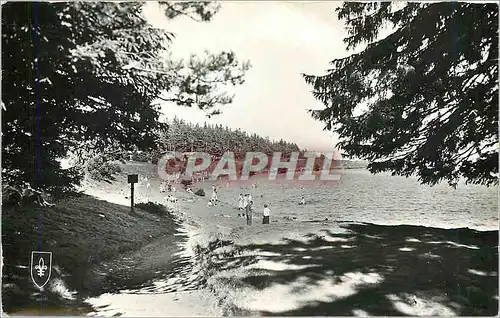
<path id="1" fill-rule="evenodd" d="M 284 140 L 271 140 L 257 134 L 248 134 L 241 129 L 230 129 L 222 125 L 203 126 L 173 118 L 166 123 L 167 129 L 156 132 L 155 147 L 150 151 L 133 151 L 110 145 L 105 151 L 81 151 L 74 153 L 76 164 L 83 168 L 92 179 L 112 180 L 121 168 L 118 162 L 126 160 L 151 162 L 156 164 L 166 151 L 206 152 L 221 156 L 226 151 L 235 153 L 236 158 L 243 158 L 246 152 L 258 151 L 271 155 L 282 152 L 283 158 L 293 151 L 302 152 L 295 143 Z"/>

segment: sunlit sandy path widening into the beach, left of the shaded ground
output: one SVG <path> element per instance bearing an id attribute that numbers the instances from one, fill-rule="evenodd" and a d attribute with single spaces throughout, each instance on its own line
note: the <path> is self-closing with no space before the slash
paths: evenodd
<path id="1" fill-rule="evenodd" d="M 274 222 L 271 225 L 263 225 L 259 207 L 256 208 L 253 225 L 247 226 L 246 220 L 237 216 L 238 194 L 242 191 L 253 192 L 254 200 L 260 206 L 263 204 L 260 189 L 221 186 L 220 203 L 215 207 L 207 207 L 214 182 L 206 181 L 193 186 L 194 189 L 204 189 L 207 195 L 205 197 L 190 194 L 179 186 L 176 192 L 160 193 L 161 180 L 156 177 L 154 166 L 128 165 L 123 170 L 124 173 L 118 175 L 113 184 L 94 185 L 86 192 L 127 205 L 129 185 L 126 174 L 139 173 L 140 179 L 147 176 L 147 182 L 136 187 L 136 202 L 151 201 L 167 205 L 184 223 L 187 233 L 183 239 L 186 239 L 186 244 L 168 246 L 165 244 L 168 240 L 160 238 L 137 251 L 96 267 L 95 272 L 102 277 L 100 283 L 110 290 L 120 291 L 120 294 L 105 294 L 88 300 L 97 308 L 98 315 L 109 316 L 125 312 L 136 316 L 155 316 L 156 313 L 162 316 L 179 316 L 183 313 L 188 316 L 220 316 L 222 309 L 218 307 L 219 301 L 204 289 L 206 277 L 199 275 L 200 264 L 192 255 L 196 246 L 206 247 L 217 238 L 231 240 L 239 245 L 279 242 L 284 237 L 291 236 L 289 222 L 295 223 L 298 233 L 310 233 L 317 228 L 317 225 L 279 219 L 277 216 L 272 217 Z M 168 194 L 175 196 L 178 202 L 165 202 L 164 198 Z M 134 308 L 130 306 L 133 302 L 140 302 L 140 305 Z M 163 310 L 159 310 L 158 306 Z"/>

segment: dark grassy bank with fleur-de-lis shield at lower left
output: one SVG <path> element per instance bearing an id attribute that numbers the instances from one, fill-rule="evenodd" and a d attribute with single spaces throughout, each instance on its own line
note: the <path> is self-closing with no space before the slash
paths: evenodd
<path id="1" fill-rule="evenodd" d="M 175 248 L 169 243 L 177 232 L 176 219 L 153 204 L 139 207 L 131 215 L 126 206 L 87 195 L 66 198 L 50 208 L 2 207 L 4 311 L 38 313 L 43 298 L 44 314 L 82 313 L 84 297 L 118 287 L 116 275 L 112 284 L 106 283 L 120 267 L 113 260 L 159 238 L 163 245 Z M 36 250 L 53 254 L 50 282 L 42 294 L 30 277 L 31 251 Z"/>

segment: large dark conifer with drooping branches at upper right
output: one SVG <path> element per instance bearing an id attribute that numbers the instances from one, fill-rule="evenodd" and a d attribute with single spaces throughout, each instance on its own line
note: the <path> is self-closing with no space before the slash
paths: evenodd
<path id="1" fill-rule="evenodd" d="M 344 3 L 348 49 L 305 75 L 344 155 L 422 183 L 498 184 L 498 4 Z M 391 33 L 377 37 L 383 28 Z"/>

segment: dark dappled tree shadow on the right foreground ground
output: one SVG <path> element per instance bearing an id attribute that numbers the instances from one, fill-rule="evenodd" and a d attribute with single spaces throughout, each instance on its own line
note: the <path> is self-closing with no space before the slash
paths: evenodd
<path id="1" fill-rule="evenodd" d="M 283 290 L 286 286 L 288 292 L 282 295 L 285 302 L 295 296 L 299 300 L 288 309 L 276 310 L 279 306 L 273 305 L 253 309 L 257 315 L 498 313 L 497 231 L 374 224 L 342 227 L 348 230 L 346 234 L 325 231 L 323 235 L 307 235 L 301 241 L 240 246 L 231 255 L 213 260 L 215 270 L 247 266 L 243 278 L 233 279 L 235 288 L 250 287 L 259 295 L 266 295 L 267 289 L 280 286 Z M 266 263 L 262 261 L 284 266 L 259 268 L 259 264 Z M 348 278 L 356 275 L 375 278 L 376 282 L 346 288 Z M 326 288 L 325 282 L 330 284 Z M 311 296 L 320 289 L 326 296 Z M 279 295 L 270 295 L 266 304 L 280 301 Z M 446 310 L 430 311 L 433 306 Z"/>

